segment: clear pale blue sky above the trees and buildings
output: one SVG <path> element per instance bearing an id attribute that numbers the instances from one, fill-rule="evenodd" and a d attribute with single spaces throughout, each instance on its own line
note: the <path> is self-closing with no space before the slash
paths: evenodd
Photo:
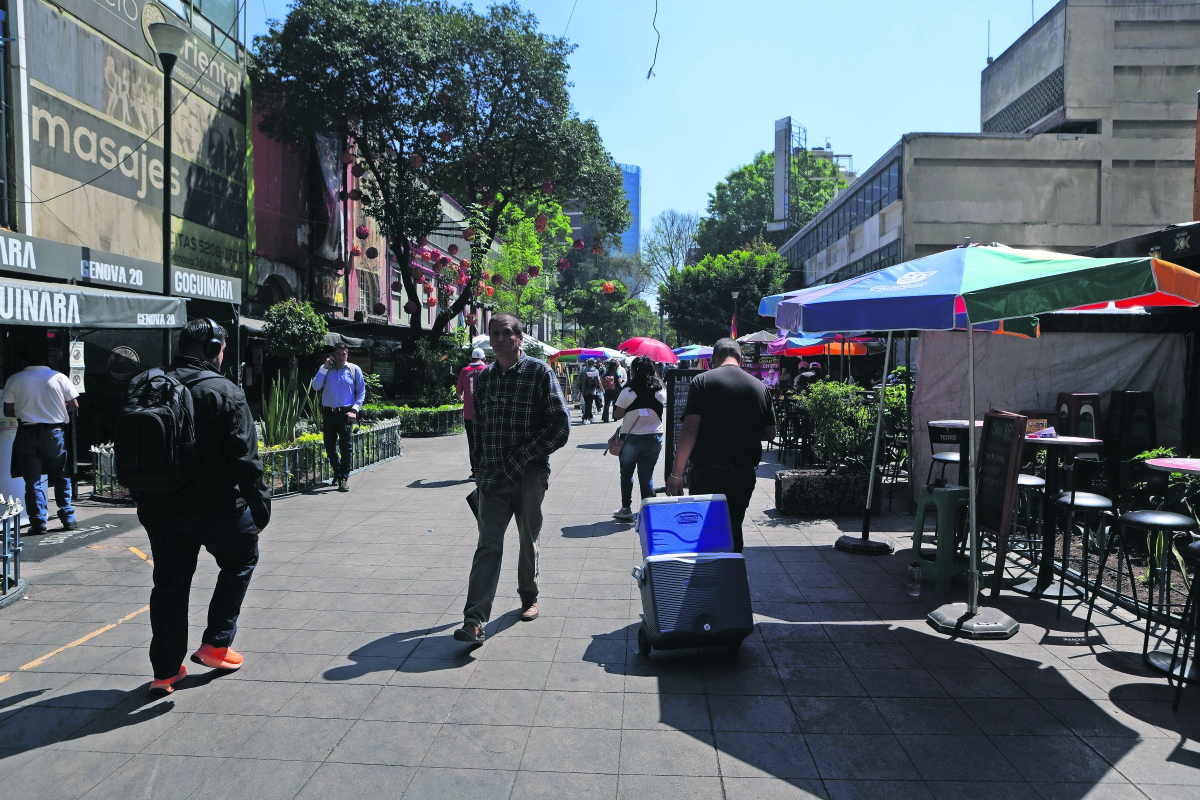
<path id="1" fill-rule="evenodd" d="M 288 5 L 246 4 L 251 37 Z M 858 169 L 907 132 L 978 131 L 988 20 L 994 56 L 1031 22 L 1028 0 L 659 0 L 647 80 L 654 0 L 522 6 L 578 46 L 571 97 L 613 157 L 642 168 L 643 231 L 664 209 L 703 213 L 716 181 L 772 149 L 782 116 Z M 1033 2 L 1038 17 L 1052 6 Z"/>

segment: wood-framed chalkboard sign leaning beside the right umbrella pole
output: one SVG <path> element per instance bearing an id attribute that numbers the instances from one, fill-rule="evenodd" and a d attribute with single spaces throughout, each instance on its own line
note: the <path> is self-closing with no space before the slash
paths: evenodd
<path id="1" fill-rule="evenodd" d="M 988 411 L 983 417 L 976 468 L 976 519 L 980 530 L 996 536 L 996 572 L 991 596 L 1000 594 L 1008 555 L 1008 534 L 1016 500 L 1016 475 L 1021 471 L 1021 446 L 1026 419 L 1007 411 Z"/>

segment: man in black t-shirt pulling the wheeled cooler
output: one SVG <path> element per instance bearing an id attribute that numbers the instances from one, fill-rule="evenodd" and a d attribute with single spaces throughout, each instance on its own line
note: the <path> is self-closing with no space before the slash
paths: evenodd
<path id="1" fill-rule="evenodd" d="M 775 435 L 775 411 L 762 381 L 742 369 L 733 339 L 713 345 L 713 369 L 692 378 L 683 410 L 667 494 L 683 494 L 691 459 L 692 494 L 724 494 L 730 504 L 733 549 L 742 552 L 742 522 L 754 494 L 762 441 Z"/>

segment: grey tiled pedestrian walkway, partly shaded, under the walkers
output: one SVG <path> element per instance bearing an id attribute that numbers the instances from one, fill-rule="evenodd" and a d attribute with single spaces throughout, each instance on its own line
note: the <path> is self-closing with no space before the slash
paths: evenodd
<path id="1" fill-rule="evenodd" d="M 834 551 L 857 519 L 775 517 L 767 467 L 746 525 L 756 632 L 738 655 L 641 658 L 608 433 L 576 427 L 553 458 L 541 619 L 515 619 L 510 551 L 506 613 L 473 651 L 450 637 L 475 542 L 461 437 L 407 441 L 350 494 L 277 503 L 236 640 L 246 666 L 197 668 L 157 703 L 144 533 L 30 561 L 29 599 L 0 609 L 0 795 L 1200 795 L 1200 687 L 1172 714 L 1136 630 L 1102 615 L 1085 637 L 1081 614 L 1055 622 L 1051 603 L 1006 596 L 1014 639 L 947 640 L 924 622 L 946 596 L 926 582 L 908 597 L 902 555 Z M 215 577 L 200 565 L 193 637 Z"/>

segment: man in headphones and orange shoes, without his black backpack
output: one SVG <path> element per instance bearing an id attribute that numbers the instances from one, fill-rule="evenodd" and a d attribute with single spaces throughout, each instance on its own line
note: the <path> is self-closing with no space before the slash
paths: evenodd
<path id="1" fill-rule="evenodd" d="M 271 521 L 271 497 L 263 482 L 258 434 L 246 396 L 220 374 L 224 348 L 224 329 L 212 320 L 193 319 L 184 327 L 168 375 L 191 392 L 196 477 L 176 492 L 134 493 L 138 519 L 154 554 L 151 694 L 169 694 L 187 674 L 182 666 L 187 603 L 200 547 L 216 559 L 221 572 L 209 601 L 208 627 L 192 661 L 212 669 L 238 669 L 242 663 L 233 638 L 258 564 L 258 534 Z M 131 392 L 143 378 L 134 378 Z"/>

